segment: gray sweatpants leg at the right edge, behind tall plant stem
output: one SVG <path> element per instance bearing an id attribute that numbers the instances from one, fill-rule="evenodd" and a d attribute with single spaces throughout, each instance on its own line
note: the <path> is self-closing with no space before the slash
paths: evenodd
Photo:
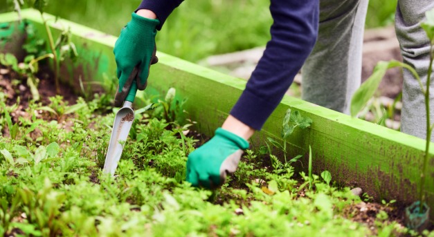
<path id="1" fill-rule="evenodd" d="M 429 66 L 429 40 L 420 27 L 425 19 L 425 12 L 434 8 L 433 0 L 399 0 L 395 14 L 395 30 L 404 62 L 416 69 L 422 84 L 426 86 Z M 434 122 L 434 76 L 431 75 L 430 86 L 430 120 Z M 425 99 L 417 80 L 404 70 L 404 87 L 402 88 L 401 131 L 419 138 L 426 138 Z M 431 141 L 434 136 L 431 135 Z"/>

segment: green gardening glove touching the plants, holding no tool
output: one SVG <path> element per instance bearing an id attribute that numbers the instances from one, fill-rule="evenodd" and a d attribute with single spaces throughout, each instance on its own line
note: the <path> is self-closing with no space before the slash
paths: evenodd
<path id="1" fill-rule="evenodd" d="M 248 149 L 248 142 L 244 138 L 217 129 L 214 138 L 188 155 L 187 181 L 192 186 L 208 189 L 221 186 L 228 173 L 237 170 L 245 149 Z"/>

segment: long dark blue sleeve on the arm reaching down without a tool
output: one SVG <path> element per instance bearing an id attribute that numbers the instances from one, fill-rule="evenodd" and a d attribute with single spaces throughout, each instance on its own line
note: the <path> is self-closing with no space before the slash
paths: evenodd
<path id="1" fill-rule="evenodd" d="M 319 0 L 271 0 L 271 40 L 230 111 L 260 130 L 309 56 L 318 35 Z"/>

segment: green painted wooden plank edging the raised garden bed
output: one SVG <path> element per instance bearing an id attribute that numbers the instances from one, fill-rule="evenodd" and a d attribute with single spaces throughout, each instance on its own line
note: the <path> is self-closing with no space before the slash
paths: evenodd
<path id="1" fill-rule="evenodd" d="M 42 27 L 39 12 L 23 11 L 24 18 Z M 9 15 L 8 15 L 9 16 Z M 47 17 L 50 17 L 47 15 Z M 7 20 L 3 20 L 7 19 Z M 0 15 L 0 21 L 11 21 Z M 116 37 L 69 21 L 63 26 L 71 27 L 74 42 L 82 54 L 81 61 L 66 68 L 69 81 L 77 84 L 78 77 L 87 82 L 111 84 L 104 77 L 114 78 L 114 55 Z M 52 24 L 59 32 L 60 25 Z M 242 93 L 246 82 L 218 73 L 208 68 L 157 52 L 159 64 L 152 66 L 147 93 L 165 93 L 177 88 L 177 93 L 188 98 L 185 106 L 188 117 L 198 122 L 199 129 L 208 135 L 221 125 L 230 108 Z M 106 88 L 107 89 L 107 88 Z M 143 93 L 138 93 L 138 102 Z M 140 104 L 140 103 L 138 103 Z M 406 204 L 417 198 L 424 140 L 365 122 L 327 108 L 285 96 L 272 113 L 262 131 L 255 134 L 251 143 L 254 148 L 264 144 L 267 137 L 278 139 L 284 113 L 287 108 L 298 110 L 314 122 L 307 131 L 296 131 L 288 140 L 289 155 L 305 155 L 311 145 L 314 170 L 329 170 L 333 180 L 351 186 L 362 187 L 378 200 L 398 200 Z M 428 162 L 426 198 L 434 203 L 434 145 L 431 143 L 431 160 Z M 306 163 L 307 164 L 307 163 Z M 305 166 L 306 167 L 306 166 Z M 434 208 L 431 207 L 431 218 Z"/>

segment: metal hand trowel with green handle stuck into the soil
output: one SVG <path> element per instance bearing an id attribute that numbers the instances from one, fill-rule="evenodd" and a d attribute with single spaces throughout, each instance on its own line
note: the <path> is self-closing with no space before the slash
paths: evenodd
<path id="1" fill-rule="evenodd" d="M 129 89 L 129 93 L 123 102 L 122 108 L 120 108 L 118 113 L 116 113 L 116 117 L 114 118 L 109 149 L 107 150 L 107 155 L 105 156 L 105 164 L 103 169 L 104 173 L 111 173 L 111 176 L 114 176 L 116 167 L 118 167 L 118 162 L 123 151 L 123 145 L 128 138 L 129 129 L 131 129 L 131 126 L 134 122 L 134 110 L 132 108 L 132 104 L 137 92 L 135 77 L 136 70 L 134 70 L 134 73 L 132 73 L 130 76 L 130 78 L 134 78 L 134 80 L 132 79 L 132 82 L 130 82 L 131 87 Z"/>

